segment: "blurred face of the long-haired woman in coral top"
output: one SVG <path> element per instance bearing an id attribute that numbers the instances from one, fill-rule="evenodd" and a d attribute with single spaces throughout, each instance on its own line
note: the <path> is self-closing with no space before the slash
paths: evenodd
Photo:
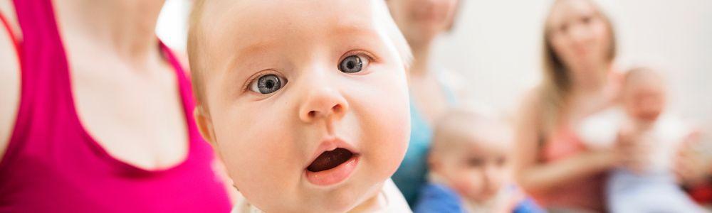
<path id="1" fill-rule="evenodd" d="M 597 70 L 609 62 L 612 29 L 590 1 L 559 1 L 548 20 L 548 39 L 568 70 Z"/>

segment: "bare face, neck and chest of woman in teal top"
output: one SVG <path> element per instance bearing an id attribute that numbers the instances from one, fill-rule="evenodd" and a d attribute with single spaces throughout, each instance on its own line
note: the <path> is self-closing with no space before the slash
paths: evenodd
<path id="1" fill-rule="evenodd" d="M 431 70 L 430 54 L 434 40 L 449 31 L 459 1 L 456 0 L 389 0 L 389 9 L 413 50 L 409 69 L 409 86 L 419 113 L 433 124 L 448 107 L 441 82 Z"/>

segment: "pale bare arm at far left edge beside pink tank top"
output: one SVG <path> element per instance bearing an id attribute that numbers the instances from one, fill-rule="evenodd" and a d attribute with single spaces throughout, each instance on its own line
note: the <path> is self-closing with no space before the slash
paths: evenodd
<path id="1" fill-rule="evenodd" d="M 0 6 L 0 13 L 5 17 L 14 14 L 10 13 L 7 2 Z M 12 20 L 7 18 L 7 21 L 10 23 Z M 17 57 L 13 39 L 3 23 L 0 23 L 0 159 L 10 141 L 20 102 L 20 68 Z"/>

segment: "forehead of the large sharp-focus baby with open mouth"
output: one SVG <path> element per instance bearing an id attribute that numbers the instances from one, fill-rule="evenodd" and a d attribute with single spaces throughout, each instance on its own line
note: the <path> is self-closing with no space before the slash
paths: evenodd
<path id="1" fill-rule="evenodd" d="M 290 46 L 333 35 L 376 35 L 377 2 L 207 1 L 204 36 L 212 48 Z"/>

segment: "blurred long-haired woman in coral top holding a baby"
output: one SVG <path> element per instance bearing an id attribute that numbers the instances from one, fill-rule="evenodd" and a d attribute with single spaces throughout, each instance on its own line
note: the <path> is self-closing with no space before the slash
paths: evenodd
<path id="1" fill-rule="evenodd" d="M 544 80 L 518 122 L 517 178 L 552 212 L 605 212 L 605 172 L 617 151 L 589 150 L 572 130 L 616 102 L 614 29 L 588 0 L 557 0 L 545 22 Z"/>

